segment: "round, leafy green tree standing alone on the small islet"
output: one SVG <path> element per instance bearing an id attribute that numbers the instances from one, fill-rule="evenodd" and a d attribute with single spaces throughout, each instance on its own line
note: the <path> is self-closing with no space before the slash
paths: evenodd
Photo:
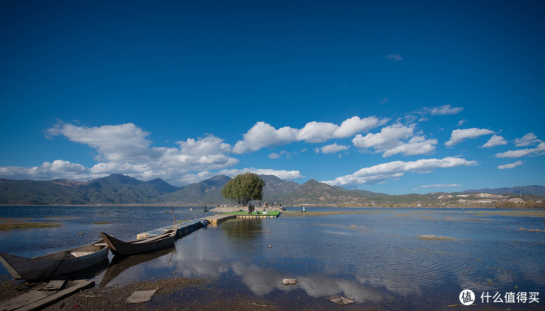
<path id="1" fill-rule="evenodd" d="M 229 180 L 221 189 L 221 194 L 234 204 L 246 206 L 251 200 L 263 200 L 263 187 L 263 178 L 247 172 Z"/>

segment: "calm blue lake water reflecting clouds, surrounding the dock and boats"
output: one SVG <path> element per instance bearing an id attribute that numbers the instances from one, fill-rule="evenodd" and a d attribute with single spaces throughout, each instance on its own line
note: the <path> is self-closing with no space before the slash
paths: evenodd
<path id="1" fill-rule="evenodd" d="M 199 210 L 197 217 L 210 214 Z M 163 276 L 210 277 L 265 299 L 341 295 L 361 306 L 414 310 L 459 304 L 463 289 L 473 290 L 481 307 L 545 304 L 545 233 L 518 230 L 545 229 L 545 211 L 345 208 L 349 213 L 320 216 L 312 211 L 340 210 L 308 211 L 209 225 L 178 240 L 175 248 L 122 260 L 110 255 L 111 265 L 86 276 L 100 286 Z M 177 220 L 195 218 L 189 207 L 175 207 L 174 214 Z M 168 207 L 0 207 L 0 218 L 62 224 L 0 232 L 0 251 L 21 256 L 81 246 L 98 240 L 100 231 L 132 240 L 173 223 Z M 94 224 L 99 222 L 111 224 Z M 7 274 L 4 267 L 0 274 Z M 284 286 L 283 278 L 299 282 Z M 497 292 L 504 302 L 482 303 L 483 292 Z M 537 292 L 539 302 L 506 303 L 508 292 Z"/>

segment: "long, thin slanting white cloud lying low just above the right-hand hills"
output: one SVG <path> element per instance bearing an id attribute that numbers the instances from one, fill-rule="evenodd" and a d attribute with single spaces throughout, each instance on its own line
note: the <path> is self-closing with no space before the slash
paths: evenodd
<path id="1" fill-rule="evenodd" d="M 477 165 L 476 161 L 446 157 L 443 159 L 420 159 L 413 162 L 394 161 L 363 168 L 354 174 L 324 181 L 331 186 L 358 186 L 374 184 L 403 176 L 406 172 L 426 173 L 439 168 Z"/>

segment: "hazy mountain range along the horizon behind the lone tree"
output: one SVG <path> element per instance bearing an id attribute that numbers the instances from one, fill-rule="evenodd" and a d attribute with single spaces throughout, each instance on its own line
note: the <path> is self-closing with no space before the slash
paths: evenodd
<path id="1" fill-rule="evenodd" d="M 543 186 L 500 189 L 465 190 L 461 193 L 430 193 L 387 195 L 366 190 L 332 187 L 316 180 L 303 184 L 284 181 L 274 175 L 259 175 L 265 181 L 263 201 L 288 205 L 367 205 L 367 204 L 441 204 L 488 198 L 487 194 L 525 194 L 526 199 L 545 195 Z M 185 187 L 174 187 L 156 178 L 141 181 L 120 174 L 80 182 L 72 180 L 9 180 L 0 179 L 2 205 L 218 205 L 229 204 L 221 189 L 231 177 L 217 175 Z M 465 193 L 465 194 L 464 194 Z M 505 198 L 508 198 L 506 195 Z M 497 199 L 497 198 L 496 198 Z"/>

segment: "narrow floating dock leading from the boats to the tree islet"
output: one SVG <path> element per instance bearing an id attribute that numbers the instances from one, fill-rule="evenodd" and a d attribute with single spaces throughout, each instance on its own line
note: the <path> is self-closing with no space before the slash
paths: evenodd
<path id="1" fill-rule="evenodd" d="M 233 218 L 275 218 L 280 216 L 281 212 L 267 212 L 267 214 L 263 214 L 263 212 L 252 212 L 252 214 L 248 214 L 248 212 L 233 212 L 233 213 L 223 213 L 223 214 L 217 214 L 217 215 L 211 215 L 208 217 L 203 217 L 201 220 L 195 219 L 190 220 L 185 223 L 179 223 L 178 224 L 178 231 L 176 232 L 176 238 L 184 237 L 191 232 L 201 229 L 205 226 L 208 226 L 208 224 L 219 224 L 221 222 L 224 222 L 227 219 L 233 219 Z M 140 238 L 147 238 L 152 236 L 158 236 L 160 234 L 165 233 L 169 229 L 172 228 L 172 225 L 150 230 L 146 232 L 142 232 L 141 234 L 138 234 L 136 236 L 137 239 Z"/>

